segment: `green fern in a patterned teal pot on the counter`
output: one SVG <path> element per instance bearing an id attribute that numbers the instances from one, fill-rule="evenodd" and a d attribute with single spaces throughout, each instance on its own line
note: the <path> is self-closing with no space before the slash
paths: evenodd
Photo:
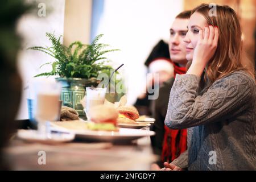
<path id="1" fill-rule="evenodd" d="M 105 64 L 109 60 L 104 55 L 118 49 L 106 49 L 108 44 L 98 43 L 102 34 L 97 35 L 91 44 L 82 44 L 76 41 L 68 47 L 61 44 L 61 36 L 56 38 L 55 35 L 48 32 L 46 36 L 51 41 L 51 47 L 35 46 L 28 49 L 47 53 L 54 57 L 55 61 L 46 63 L 52 65 L 51 72 L 40 73 L 35 77 L 59 76 L 56 80 L 63 85 L 61 90 L 63 105 L 76 109 L 80 116 L 84 116 L 80 100 L 85 96 L 85 88 L 87 86 L 96 87 L 99 84 L 98 74 L 110 74 L 110 69 L 113 68 Z"/>

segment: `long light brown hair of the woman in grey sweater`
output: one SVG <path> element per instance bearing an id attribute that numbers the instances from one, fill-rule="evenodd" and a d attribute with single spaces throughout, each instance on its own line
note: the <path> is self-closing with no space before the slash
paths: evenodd
<path id="1" fill-rule="evenodd" d="M 217 26 L 219 31 L 218 46 L 205 76 L 214 82 L 229 73 L 243 70 L 255 79 L 251 61 L 242 51 L 242 32 L 236 12 L 229 6 L 216 5 L 216 14 L 211 12 L 212 15 L 209 15 L 211 8 L 208 4 L 202 4 L 192 10 L 192 14 L 200 13 L 209 25 Z"/>

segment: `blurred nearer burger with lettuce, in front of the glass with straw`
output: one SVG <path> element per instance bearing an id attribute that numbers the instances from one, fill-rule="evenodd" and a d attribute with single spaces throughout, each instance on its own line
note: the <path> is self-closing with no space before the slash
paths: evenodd
<path id="1" fill-rule="evenodd" d="M 118 111 L 113 106 L 97 105 L 89 110 L 89 130 L 119 131 L 117 127 Z"/>

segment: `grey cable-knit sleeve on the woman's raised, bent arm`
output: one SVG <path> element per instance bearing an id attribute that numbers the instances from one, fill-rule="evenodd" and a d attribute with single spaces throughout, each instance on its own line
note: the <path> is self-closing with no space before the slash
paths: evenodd
<path id="1" fill-rule="evenodd" d="M 183 129 L 228 119 L 234 111 L 249 106 L 255 82 L 243 72 L 221 78 L 199 95 L 200 77 L 176 75 L 172 86 L 165 124 Z"/>

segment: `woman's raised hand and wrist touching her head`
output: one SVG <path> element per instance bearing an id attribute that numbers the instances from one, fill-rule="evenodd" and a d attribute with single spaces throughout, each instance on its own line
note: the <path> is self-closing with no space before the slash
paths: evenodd
<path id="1" fill-rule="evenodd" d="M 193 60 L 187 74 L 201 76 L 205 66 L 213 57 L 218 45 L 218 28 L 209 26 L 199 30 L 199 40 L 193 52 Z"/>

